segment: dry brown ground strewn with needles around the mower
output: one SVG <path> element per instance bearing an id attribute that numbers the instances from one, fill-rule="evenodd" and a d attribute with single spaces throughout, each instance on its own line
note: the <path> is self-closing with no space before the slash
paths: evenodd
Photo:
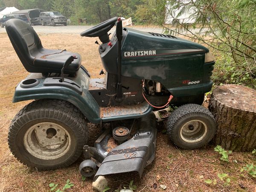
<path id="1" fill-rule="evenodd" d="M 79 35 L 40 35 L 43 46 L 52 49 L 67 49 L 79 52 L 82 64 L 93 78 L 99 77 L 102 69 L 98 55 L 98 46 L 94 44 L 97 38 L 84 38 Z M 74 184 L 69 192 L 92 191 L 92 179 L 82 180 L 78 167 L 82 158 L 72 166 L 55 171 L 38 172 L 19 163 L 10 153 L 7 144 L 9 124 L 15 114 L 29 101 L 12 103 L 12 95 L 17 83 L 29 73 L 20 63 L 9 38 L 0 33 L 0 192 L 46 192 L 49 183 L 64 186 L 67 179 Z M 110 182 L 108 191 L 121 189 L 134 180 L 136 192 L 219 192 L 248 191 L 256 192 L 256 179 L 240 169 L 246 164 L 256 165 L 256 156 L 248 153 L 230 154 L 230 162 L 220 160 L 220 155 L 207 145 L 197 150 L 180 150 L 170 142 L 165 134 L 165 122 L 157 125 L 157 150 L 153 163 L 146 167 L 142 178 L 136 174 L 108 176 Z M 99 127 L 89 124 L 90 144 L 97 138 Z M 231 179 L 230 186 L 224 186 L 224 181 L 218 178 L 218 173 L 227 173 Z M 217 184 L 207 184 L 206 179 L 216 179 Z M 166 185 L 166 189 L 160 188 Z"/>

